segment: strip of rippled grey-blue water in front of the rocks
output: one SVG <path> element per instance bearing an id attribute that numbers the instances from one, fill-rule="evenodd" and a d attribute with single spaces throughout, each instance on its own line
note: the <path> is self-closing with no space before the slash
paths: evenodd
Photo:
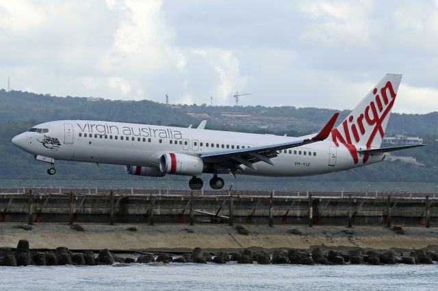
<path id="1" fill-rule="evenodd" d="M 438 265 L 0 267 L 1 290 L 437 290 Z"/>

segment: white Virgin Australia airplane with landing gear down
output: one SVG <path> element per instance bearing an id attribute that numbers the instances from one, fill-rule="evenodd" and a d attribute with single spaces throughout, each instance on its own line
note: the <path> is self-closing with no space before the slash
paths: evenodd
<path id="1" fill-rule="evenodd" d="M 125 165 L 131 175 L 192 176 L 201 189 L 203 173 L 212 174 L 212 189 L 222 189 L 218 174 L 233 176 L 307 176 L 383 161 L 386 152 L 414 148 L 380 148 L 402 75 L 386 74 L 337 128 L 339 113 L 314 135 L 285 137 L 198 128 L 128 124 L 94 120 L 45 122 L 12 139 L 36 160 Z M 421 146 L 421 145 L 418 145 Z"/>

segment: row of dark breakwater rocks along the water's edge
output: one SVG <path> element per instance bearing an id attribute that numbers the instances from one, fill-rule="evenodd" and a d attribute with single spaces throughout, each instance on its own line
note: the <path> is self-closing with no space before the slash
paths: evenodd
<path id="1" fill-rule="evenodd" d="M 0 248 L 0 266 L 62 266 L 62 265 L 114 265 L 114 264 L 149 264 L 159 262 L 206 264 L 302 264 L 302 265 L 341 265 L 341 264 L 433 264 L 438 262 L 438 253 L 417 249 L 413 251 L 373 251 L 350 249 L 343 252 L 334 249 L 279 249 L 274 253 L 267 251 L 251 251 L 243 249 L 239 252 L 227 253 L 219 251 L 209 253 L 196 247 L 191 253 L 173 255 L 171 253 L 136 252 L 121 257 L 109 249 L 73 252 L 66 247 L 57 247 L 54 251 L 30 249 L 29 241 L 20 240 L 15 249 Z"/>

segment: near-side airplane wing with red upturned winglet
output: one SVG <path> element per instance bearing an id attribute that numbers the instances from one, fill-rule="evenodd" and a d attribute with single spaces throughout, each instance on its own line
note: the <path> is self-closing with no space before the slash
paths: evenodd
<path id="1" fill-rule="evenodd" d="M 304 146 L 308 143 L 314 143 L 316 141 L 323 141 L 329 137 L 338 115 L 339 113 L 335 113 L 329 122 L 327 122 L 327 124 L 324 126 L 324 128 L 322 128 L 322 130 L 320 130 L 320 132 L 316 135 L 313 135 L 313 137 L 289 141 L 287 143 L 275 143 L 267 146 L 241 148 L 238 150 L 224 150 L 220 152 L 206 152 L 201 154 L 201 158 L 203 158 L 203 160 L 207 163 L 222 165 L 222 167 L 229 169 L 231 173 L 234 173 L 237 169 L 244 171 L 244 168 L 241 165 L 245 165 L 251 169 L 257 169 L 254 164 L 259 161 L 274 165 L 270 158 L 277 156 L 278 151 Z"/>

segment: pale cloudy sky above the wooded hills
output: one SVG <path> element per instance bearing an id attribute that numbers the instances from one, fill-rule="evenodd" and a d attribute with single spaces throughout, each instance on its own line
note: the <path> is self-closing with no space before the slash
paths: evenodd
<path id="1" fill-rule="evenodd" d="M 56 96 L 438 110 L 436 1 L 0 0 L 0 87 Z"/>

